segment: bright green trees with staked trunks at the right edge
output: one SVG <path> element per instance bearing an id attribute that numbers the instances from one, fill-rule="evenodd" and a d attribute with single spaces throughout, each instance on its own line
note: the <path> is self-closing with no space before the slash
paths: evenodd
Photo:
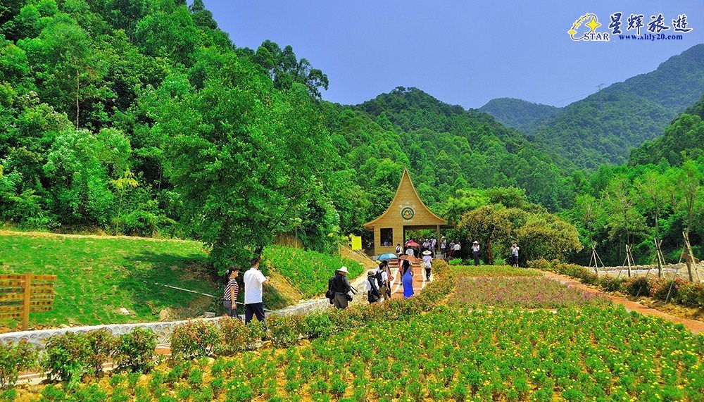
<path id="1" fill-rule="evenodd" d="M 675 123 L 677 124 L 677 123 Z M 689 232 L 695 255 L 704 252 L 704 158 L 671 166 L 603 165 L 577 188 L 577 206 L 560 213 L 577 226 L 586 265 L 591 241 L 606 265 L 624 265 L 629 244 L 636 263 L 655 263 L 655 238 L 676 263 Z"/>

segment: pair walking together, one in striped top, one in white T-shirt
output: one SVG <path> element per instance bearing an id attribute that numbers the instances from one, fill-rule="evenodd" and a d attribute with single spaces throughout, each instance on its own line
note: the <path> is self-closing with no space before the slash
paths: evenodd
<path id="1" fill-rule="evenodd" d="M 263 285 L 269 281 L 269 277 L 259 270 L 259 258 L 252 258 L 249 262 L 250 268 L 244 272 L 244 323 L 249 324 L 252 318 L 264 322 L 264 303 L 262 301 Z M 225 272 L 225 294 L 222 297 L 222 306 L 230 317 L 236 317 L 237 295 L 239 294 L 239 284 L 237 284 L 239 267 L 232 265 Z"/>

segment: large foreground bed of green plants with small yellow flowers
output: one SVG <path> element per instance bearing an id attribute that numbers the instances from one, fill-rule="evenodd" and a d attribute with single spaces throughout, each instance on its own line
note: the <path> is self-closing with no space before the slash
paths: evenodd
<path id="1" fill-rule="evenodd" d="M 194 360 L 43 401 L 702 401 L 704 338 L 623 308 L 438 307 L 289 348 Z"/>

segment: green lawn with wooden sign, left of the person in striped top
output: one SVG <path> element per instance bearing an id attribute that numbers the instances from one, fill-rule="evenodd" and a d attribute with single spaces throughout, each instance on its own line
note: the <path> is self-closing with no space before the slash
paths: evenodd
<path id="1" fill-rule="evenodd" d="M 0 234 L 0 272 L 58 276 L 54 310 L 32 313 L 30 326 L 158 320 L 161 309 L 184 308 L 198 296 L 153 282 L 217 294 L 201 268 L 205 260 L 194 241 Z M 119 308 L 134 315 L 115 313 Z"/>

